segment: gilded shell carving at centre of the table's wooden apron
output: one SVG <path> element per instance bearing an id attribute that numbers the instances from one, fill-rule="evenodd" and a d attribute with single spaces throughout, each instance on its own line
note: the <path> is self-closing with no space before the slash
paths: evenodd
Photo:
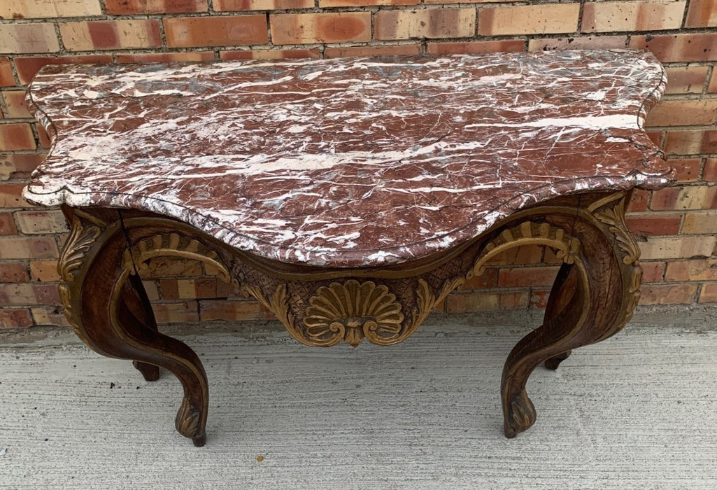
<path id="1" fill-rule="evenodd" d="M 371 281 L 322 286 L 309 304 L 304 325 L 313 345 L 328 347 L 344 340 L 356 347 L 364 337 L 385 341 L 401 333 L 404 315 L 396 295 Z"/>

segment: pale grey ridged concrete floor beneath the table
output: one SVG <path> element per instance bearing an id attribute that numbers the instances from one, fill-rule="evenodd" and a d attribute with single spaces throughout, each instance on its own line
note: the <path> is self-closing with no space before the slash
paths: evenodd
<path id="1" fill-rule="evenodd" d="M 717 307 L 639 309 L 538 368 L 538 421 L 507 440 L 500 371 L 539 321 L 437 316 L 358 349 L 303 347 L 274 324 L 188 327 L 212 390 L 204 448 L 174 431 L 168 373 L 144 382 L 71 334 L 6 336 L 0 489 L 717 488 Z"/>

